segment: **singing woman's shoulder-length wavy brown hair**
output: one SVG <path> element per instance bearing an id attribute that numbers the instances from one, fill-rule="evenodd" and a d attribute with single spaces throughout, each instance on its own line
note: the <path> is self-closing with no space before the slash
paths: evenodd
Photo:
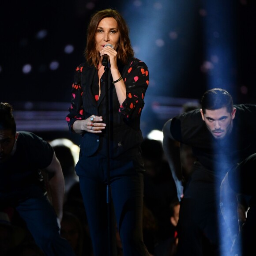
<path id="1" fill-rule="evenodd" d="M 85 58 L 90 65 L 97 65 L 100 60 L 100 55 L 96 48 L 95 34 L 97 32 L 98 24 L 104 18 L 114 18 L 117 21 L 117 26 L 120 31 L 120 42 L 117 48 L 117 58 L 123 63 L 127 64 L 128 58 L 134 56 L 131 41 L 128 36 L 129 29 L 120 13 L 114 9 L 108 8 L 102 11 L 97 11 L 92 15 L 87 29 L 87 46 L 84 52 Z"/>

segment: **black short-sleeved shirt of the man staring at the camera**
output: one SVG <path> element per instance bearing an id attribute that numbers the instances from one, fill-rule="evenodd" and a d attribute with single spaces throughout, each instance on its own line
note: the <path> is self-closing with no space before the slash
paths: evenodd
<path id="1" fill-rule="evenodd" d="M 171 135 L 192 146 L 197 169 L 223 178 L 233 165 L 256 153 L 256 105 L 234 105 L 237 109 L 232 132 L 215 139 L 202 120 L 200 109 L 182 113 L 171 122 Z"/>

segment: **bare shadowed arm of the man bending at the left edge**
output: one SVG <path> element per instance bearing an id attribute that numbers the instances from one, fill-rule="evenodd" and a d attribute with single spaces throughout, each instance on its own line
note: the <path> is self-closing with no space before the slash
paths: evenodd
<path id="1" fill-rule="evenodd" d="M 60 162 L 56 158 L 55 153 L 53 154 L 52 162 L 50 163 L 49 166 L 43 169 L 43 171 L 48 173 L 48 176 L 49 176 L 48 192 L 50 192 L 49 199 L 53 204 L 53 208 L 56 212 L 56 215 L 59 221 L 61 221 L 64 193 L 65 193 L 65 184 L 64 184 L 64 176 L 62 173 Z"/>

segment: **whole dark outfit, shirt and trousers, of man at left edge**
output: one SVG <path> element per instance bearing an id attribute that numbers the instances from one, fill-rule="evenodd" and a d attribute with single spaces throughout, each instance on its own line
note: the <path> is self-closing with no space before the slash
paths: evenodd
<path id="1" fill-rule="evenodd" d="M 31 132 L 19 132 L 15 153 L 0 163 L 0 210 L 15 208 L 45 255 L 74 256 L 68 241 L 60 237 L 40 173 L 52 159 L 49 143 Z"/>

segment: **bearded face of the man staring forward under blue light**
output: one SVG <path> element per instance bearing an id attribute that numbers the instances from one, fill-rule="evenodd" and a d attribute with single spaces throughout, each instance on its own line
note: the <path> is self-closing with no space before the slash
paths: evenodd
<path id="1" fill-rule="evenodd" d="M 223 107 L 216 110 L 206 109 L 205 114 L 203 114 L 202 109 L 200 109 L 200 112 L 212 136 L 215 139 L 223 139 L 232 131 L 236 110 L 236 108 L 233 108 L 232 113 L 228 113 L 227 108 Z"/>

